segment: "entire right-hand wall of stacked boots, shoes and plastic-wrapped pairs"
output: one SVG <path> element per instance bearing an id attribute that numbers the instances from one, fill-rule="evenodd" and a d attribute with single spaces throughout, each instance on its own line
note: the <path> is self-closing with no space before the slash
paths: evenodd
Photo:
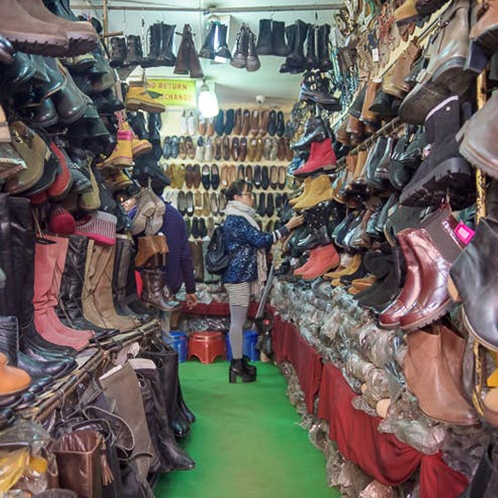
<path id="1" fill-rule="evenodd" d="M 295 114 L 303 131 L 291 144 L 310 154 L 293 169 L 304 183 L 290 196 L 305 224 L 280 256 L 273 304 L 322 355 L 324 372 L 329 365 L 341 371 L 354 394 L 350 419 L 372 417 L 377 447 L 380 433 L 394 435 L 422 461 L 441 457 L 439 483 L 451 476 L 444 490 L 426 479 L 424 464 L 420 474 L 397 479 L 388 470 L 394 461 L 372 450 L 377 460 L 367 462 L 367 438 L 355 443 L 352 434 L 333 451 L 322 445 L 330 451 L 331 484 L 347 496 L 492 497 L 498 342 L 482 316 L 495 294 L 484 267 L 496 233 L 498 150 L 490 132 L 497 94 L 485 97 L 497 81 L 498 45 L 487 38 L 496 18 L 462 0 L 386 2 L 373 10 L 347 2 L 338 16 L 336 39 L 359 43 L 355 54 L 340 44 L 334 54 L 339 66 L 351 62 L 358 87 L 335 115 L 334 141 L 326 145 L 313 112 L 323 95 L 305 75 L 300 101 L 313 114 Z M 334 160 L 322 160 L 331 148 Z M 476 184 L 478 171 L 490 175 L 487 184 Z M 484 200 L 486 217 L 476 220 Z M 487 289 L 476 292 L 485 281 Z M 303 385 L 299 378 L 297 390 Z M 354 423 L 339 413 L 320 426 L 320 394 L 303 422 L 318 440 L 346 434 Z M 355 468 L 352 461 L 370 489 L 346 489 L 343 472 Z"/>

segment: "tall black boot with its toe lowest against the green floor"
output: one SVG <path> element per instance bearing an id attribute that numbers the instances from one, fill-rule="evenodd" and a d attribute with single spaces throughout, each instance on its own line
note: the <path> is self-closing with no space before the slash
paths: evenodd
<path id="1" fill-rule="evenodd" d="M 149 399 L 144 399 L 145 417 L 152 443 L 161 461 L 162 472 L 193 469 L 195 462 L 178 446 L 170 428 L 158 369 L 142 368 L 140 365 L 137 367 L 137 377 L 150 389 L 150 396 L 147 396 Z M 141 392 L 143 397 L 143 388 Z"/>

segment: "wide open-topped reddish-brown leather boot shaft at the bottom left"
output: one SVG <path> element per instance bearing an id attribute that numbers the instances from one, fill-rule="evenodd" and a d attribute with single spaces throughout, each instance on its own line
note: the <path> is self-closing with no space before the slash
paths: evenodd
<path id="1" fill-rule="evenodd" d="M 101 498 L 104 446 L 102 435 L 93 429 L 77 430 L 58 438 L 52 451 L 57 457 L 60 485 L 75 491 L 78 498 Z"/>

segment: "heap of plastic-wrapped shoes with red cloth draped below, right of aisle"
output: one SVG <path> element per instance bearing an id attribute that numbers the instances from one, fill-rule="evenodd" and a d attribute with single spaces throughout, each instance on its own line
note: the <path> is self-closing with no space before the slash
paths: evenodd
<path id="1" fill-rule="evenodd" d="M 319 446 L 326 453 L 331 485 L 341 484 L 339 474 L 345 460 L 349 459 L 373 478 L 383 483 L 397 484 L 409 482 L 413 478 L 418 480 L 417 474 L 412 474 L 409 469 L 416 471 L 418 464 L 414 462 L 422 462 L 421 496 L 456 497 L 465 489 L 487 445 L 488 429 L 484 426 L 445 423 L 424 414 L 428 410 L 427 399 L 419 400 L 414 393 L 425 392 L 426 398 L 428 394 L 428 399 L 432 402 L 431 409 L 439 402 L 434 394 L 437 389 L 431 372 L 434 359 L 429 360 L 427 355 L 422 355 L 425 359 L 421 357 L 418 361 L 425 362 L 427 368 L 421 370 L 419 365 L 419 384 L 410 382 L 412 378 L 409 365 L 417 361 L 417 351 L 411 350 L 411 341 L 418 339 L 418 335 L 428 336 L 430 339 L 435 337 L 436 340 L 442 338 L 445 342 L 447 335 L 453 332 L 438 325 L 437 330 L 432 330 L 432 334 L 420 331 L 415 336 L 403 337 L 394 330 L 379 329 L 369 318 L 368 312 L 360 308 L 344 288 L 332 290 L 330 286 L 320 285 L 319 282 L 297 286 L 292 279 L 278 277 L 271 294 L 271 306 L 277 312 L 274 322 L 276 335 L 273 336 L 277 361 L 281 361 L 283 357 L 288 362 L 293 356 L 292 352 L 290 356 L 289 352 L 282 353 L 283 346 L 278 341 L 280 334 L 288 334 L 289 327 L 322 359 L 323 372 L 321 378 L 318 377 L 319 397 L 318 401 L 315 399 L 311 410 L 303 404 L 309 383 L 306 382 L 306 374 L 299 362 L 294 361 L 293 368 L 284 362 L 281 369 L 285 376 L 291 377 L 289 397 L 303 415 L 302 425 L 309 429 L 310 440 L 320 442 Z M 452 321 L 452 327 L 463 330 L 458 320 Z M 460 343 L 463 346 L 465 340 L 461 339 Z M 302 350 L 301 347 L 300 351 Z M 468 358 L 469 354 L 472 355 L 472 352 L 467 345 L 465 357 Z M 462 356 L 459 365 L 454 366 L 456 371 L 465 362 Z M 470 393 L 472 385 L 467 387 Z M 330 391 L 331 388 L 334 392 Z M 331 410 L 340 411 L 334 417 Z M 348 430 L 355 426 L 352 423 L 338 429 L 337 424 L 346 423 L 341 418 L 345 414 L 350 419 L 358 417 L 358 424 L 364 431 L 363 439 L 362 436 L 350 435 L 346 445 L 340 437 L 337 437 L 337 443 L 333 443 L 329 439 L 330 434 L 344 430 L 344 435 L 348 438 Z M 359 428 L 360 425 L 356 427 Z M 376 456 L 366 455 L 366 452 L 373 451 L 367 450 L 370 431 L 377 441 Z M 406 463 L 402 477 L 400 474 L 395 475 L 397 471 L 393 466 L 394 462 L 390 461 L 394 453 L 382 450 L 385 441 L 389 441 L 391 449 L 397 447 L 394 453 L 403 453 L 403 457 L 401 453 L 396 453 L 397 459 L 406 458 L 408 454 L 412 458 L 410 463 Z M 338 451 L 345 453 L 346 459 L 340 458 Z M 397 461 L 398 470 L 403 466 L 400 462 L 401 460 Z M 424 467 L 425 465 L 428 467 Z M 446 480 L 447 488 L 444 493 L 442 488 L 437 489 L 444 485 L 439 479 L 425 479 L 424 473 L 428 469 L 439 473 L 440 479 Z"/>

